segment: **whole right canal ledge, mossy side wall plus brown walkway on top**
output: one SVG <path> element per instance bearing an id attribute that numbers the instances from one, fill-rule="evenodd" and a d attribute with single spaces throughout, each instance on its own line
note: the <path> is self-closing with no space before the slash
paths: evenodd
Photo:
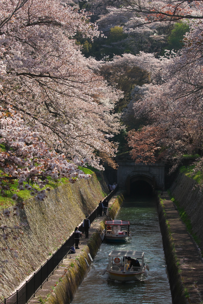
<path id="1" fill-rule="evenodd" d="M 156 202 L 172 303 L 203 303 L 203 264 L 198 246 L 168 193 L 157 195 Z"/>

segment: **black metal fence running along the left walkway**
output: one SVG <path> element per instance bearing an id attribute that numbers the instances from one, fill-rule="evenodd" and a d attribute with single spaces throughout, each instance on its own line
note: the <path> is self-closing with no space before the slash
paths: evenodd
<path id="1" fill-rule="evenodd" d="M 117 192 L 118 187 L 114 189 L 110 194 L 105 198 L 108 201 L 114 196 Z M 90 224 L 97 218 L 99 215 L 98 207 L 90 214 L 89 221 Z M 82 224 L 79 226 L 79 230 L 84 232 L 84 227 Z M 68 240 L 57 249 L 54 254 L 42 265 L 33 276 L 26 281 L 26 283 L 16 290 L 11 296 L 7 299 L 5 298 L 0 304 L 26 304 L 27 302 L 35 296 L 35 293 L 42 288 L 44 282 L 48 281 L 48 278 L 54 274 L 54 270 L 58 268 L 58 265 L 63 261 L 67 254 L 70 252 L 70 248 L 74 245 L 74 234 L 72 233 Z"/>

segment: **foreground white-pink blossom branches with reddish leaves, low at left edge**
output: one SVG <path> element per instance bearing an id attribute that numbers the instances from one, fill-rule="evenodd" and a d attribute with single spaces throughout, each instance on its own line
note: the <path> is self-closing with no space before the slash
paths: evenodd
<path id="1" fill-rule="evenodd" d="M 45 190 L 49 188 L 40 191 L 37 188 L 42 189 L 50 179 L 58 181 L 68 178 L 73 183 L 77 178 L 91 177 L 77 167 L 86 164 L 88 159 L 74 159 L 74 162 L 66 160 L 64 154 L 50 151 L 46 143 L 39 140 L 37 124 L 35 130 L 32 130 L 24 124 L 20 114 L 12 109 L 9 112 L 2 108 L 0 110 L 0 143 L 5 147 L 0 154 L 2 196 L 14 192 L 12 185 L 17 181 L 19 190 L 29 190 L 37 201 L 42 201 L 46 197 Z M 12 199 L 17 198 L 14 193 Z"/>

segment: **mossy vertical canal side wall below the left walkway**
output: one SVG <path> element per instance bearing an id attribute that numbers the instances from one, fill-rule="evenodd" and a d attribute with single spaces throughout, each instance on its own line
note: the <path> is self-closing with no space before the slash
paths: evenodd
<path id="1" fill-rule="evenodd" d="M 114 197 L 110 200 L 110 208 L 109 208 L 109 217 L 111 219 L 114 219 L 118 210 L 120 209 L 120 206 L 124 200 L 124 192 L 118 191 Z M 89 266 L 91 266 L 92 262 L 90 261 L 90 258 L 88 254 L 91 255 L 92 258 L 94 258 L 97 254 L 97 251 L 100 248 L 100 245 L 102 243 L 101 240 L 101 233 L 104 229 L 104 221 L 107 219 L 107 217 L 103 216 L 101 219 L 95 222 L 93 222 L 93 230 L 94 232 L 91 235 L 90 239 L 84 246 L 80 246 L 81 250 L 76 254 L 72 254 L 74 256 L 74 260 L 71 259 L 71 263 L 69 262 L 69 266 L 67 267 L 67 271 L 64 276 L 59 278 L 59 283 L 56 284 L 54 288 L 52 288 L 51 294 L 47 297 L 46 301 L 40 301 L 41 303 L 47 302 L 49 304 L 69 304 L 74 299 L 74 296 L 79 288 L 79 285 L 82 283 L 84 278 L 87 276 L 90 267 L 86 264 L 86 261 L 88 262 Z M 90 229 L 91 230 L 91 229 Z M 83 241 L 83 242 L 84 242 Z M 82 248 L 83 247 L 83 248 Z M 75 255 L 77 255 L 75 257 Z M 69 257 L 67 256 L 68 260 Z M 86 259 L 86 261 L 85 261 Z M 67 264 L 66 264 L 67 265 Z M 54 290 L 53 290 L 54 289 Z M 48 293 L 48 292 L 47 292 Z"/>

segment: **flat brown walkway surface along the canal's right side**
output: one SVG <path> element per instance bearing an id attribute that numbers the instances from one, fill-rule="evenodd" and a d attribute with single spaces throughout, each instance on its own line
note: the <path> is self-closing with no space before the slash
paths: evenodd
<path id="1" fill-rule="evenodd" d="M 179 269 L 182 281 L 189 294 L 188 302 L 203 303 L 203 264 L 197 244 L 187 232 L 185 224 L 180 219 L 175 204 L 170 200 L 167 192 L 161 195 L 166 212 L 166 219 L 170 224 L 171 235 L 175 245 L 175 252 L 179 259 Z M 170 267 L 170 265 L 168 265 Z"/>

